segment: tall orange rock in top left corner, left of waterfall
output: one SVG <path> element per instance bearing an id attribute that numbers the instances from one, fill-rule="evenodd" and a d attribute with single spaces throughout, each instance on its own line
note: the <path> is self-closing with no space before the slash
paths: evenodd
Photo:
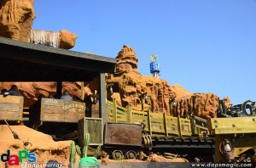
<path id="1" fill-rule="evenodd" d="M 35 19 L 33 0 L 1 0 L 0 36 L 29 42 Z"/>

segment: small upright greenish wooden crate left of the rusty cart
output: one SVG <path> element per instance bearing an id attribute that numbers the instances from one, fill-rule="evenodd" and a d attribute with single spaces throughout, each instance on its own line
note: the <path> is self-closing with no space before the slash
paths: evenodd
<path id="1" fill-rule="evenodd" d="M 90 133 L 90 145 L 103 144 L 103 127 L 101 118 L 84 117 L 79 120 L 79 146 L 84 146 L 84 135 Z"/>

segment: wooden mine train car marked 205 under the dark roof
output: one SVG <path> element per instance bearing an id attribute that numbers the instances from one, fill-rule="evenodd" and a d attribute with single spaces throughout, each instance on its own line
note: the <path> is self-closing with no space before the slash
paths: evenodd
<path id="1" fill-rule="evenodd" d="M 85 116 L 83 102 L 41 98 L 30 107 L 30 126 L 54 137 L 77 130 L 79 119 Z"/>

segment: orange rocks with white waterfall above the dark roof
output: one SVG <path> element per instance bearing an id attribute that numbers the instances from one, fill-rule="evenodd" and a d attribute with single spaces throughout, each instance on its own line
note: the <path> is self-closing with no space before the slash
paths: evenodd
<path id="1" fill-rule="evenodd" d="M 73 48 L 78 36 L 70 31 L 32 30 L 36 18 L 33 3 L 33 0 L 1 0 L 0 36 L 55 48 Z"/>

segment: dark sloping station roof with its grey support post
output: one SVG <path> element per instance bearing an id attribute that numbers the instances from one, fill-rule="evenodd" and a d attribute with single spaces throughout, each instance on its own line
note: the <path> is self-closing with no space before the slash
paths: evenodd
<path id="1" fill-rule="evenodd" d="M 97 79 L 100 117 L 105 123 L 105 73 L 114 73 L 118 59 L 90 53 L 20 42 L 0 37 L 0 81 L 55 81 L 56 96 L 61 96 L 62 81 Z M 83 87 L 83 86 L 82 86 Z"/>

